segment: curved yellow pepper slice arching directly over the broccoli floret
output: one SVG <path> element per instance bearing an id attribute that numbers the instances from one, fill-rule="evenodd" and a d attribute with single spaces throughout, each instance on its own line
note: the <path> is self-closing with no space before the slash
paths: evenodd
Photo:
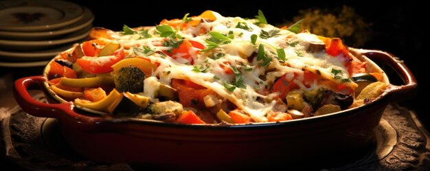
<path id="1" fill-rule="evenodd" d="M 113 73 L 118 73 L 122 67 L 135 66 L 139 68 L 145 75 L 150 76 L 152 71 L 157 69 L 157 65 L 144 60 L 142 58 L 126 58 L 112 65 Z"/>

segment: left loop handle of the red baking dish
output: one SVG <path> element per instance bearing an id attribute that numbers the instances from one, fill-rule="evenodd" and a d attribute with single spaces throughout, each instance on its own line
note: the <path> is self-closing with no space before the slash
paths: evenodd
<path id="1" fill-rule="evenodd" d="M 43 89 L 43 82 L 45 82 L 43 76 L 30 76 L 15 81 L 14 96 L 23 111 L 36 117 L 57 118 L 60 113 L 73 110 L 73 107 L 69 103 L 47 104 L 34 100 L 32 95 L 28 93 L 28 90 L 40 89 L 45 91 Z"/>

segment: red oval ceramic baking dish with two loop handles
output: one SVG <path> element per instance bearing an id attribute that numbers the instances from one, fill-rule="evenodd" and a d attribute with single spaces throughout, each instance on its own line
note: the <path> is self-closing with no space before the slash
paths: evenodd
<path id="1" fill-rule="evenodd" d="M 14 95 L 30 115 L 58 119 L 69 146 L 93 161 L 176 170 L 330 167 L 327 163 L 359 157 L 372 144 L 385 106 L 411 98 L 418 88 L 411 71 L 392 54 L 350 50 L 363 54 L 370 62 L 389 65 L 405 84 L 389 84 L 377 100 L 338 113 L 287 122 L 225 126 L 93 115 L 71 103 L 58 103 L 47 93 L 47 69 L 43 76 L 16 80 Z M 45 91 L 50 103 L 32 99 L 29 89 Z"/>

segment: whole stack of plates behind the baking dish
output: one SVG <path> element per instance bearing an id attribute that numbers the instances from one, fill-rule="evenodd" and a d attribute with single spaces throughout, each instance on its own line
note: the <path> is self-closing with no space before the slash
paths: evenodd
<path id="1" fill-rule="evenodd" d="M 93 20 L 69 1 L 0 1 L 0 67 L 46 65 L 87 38 Z"/>

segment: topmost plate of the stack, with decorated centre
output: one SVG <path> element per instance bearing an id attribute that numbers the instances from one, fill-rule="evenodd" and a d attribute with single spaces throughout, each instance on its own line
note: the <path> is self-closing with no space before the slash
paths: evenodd
<path id="1" fill-rule="evenodd" d="M 82 16 L 82 7 L 69 1 L 0 1 L 0 30 L 54 30 Z"/>

